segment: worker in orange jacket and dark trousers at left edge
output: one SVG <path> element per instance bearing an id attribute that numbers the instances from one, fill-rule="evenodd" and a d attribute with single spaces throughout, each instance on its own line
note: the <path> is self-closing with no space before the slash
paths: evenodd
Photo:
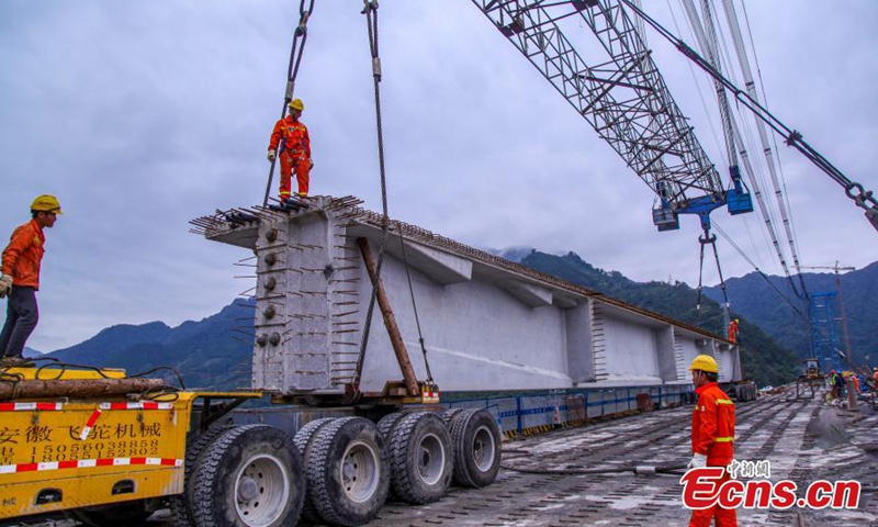
<path id="1" fill-rule="evenodd" d="M 0 356 L 21 359 L 24 343 L 40 316 L 36 291 L 40 289 L 40 264 L 45 253 L 44 228 L 55 225 L 61 205 L 54 195 L 43 194 L 31 204 L 31 221 L 19 226 L 3 249 L 0 298 L 9 295 L 7 322 L 0 333 Z"/>

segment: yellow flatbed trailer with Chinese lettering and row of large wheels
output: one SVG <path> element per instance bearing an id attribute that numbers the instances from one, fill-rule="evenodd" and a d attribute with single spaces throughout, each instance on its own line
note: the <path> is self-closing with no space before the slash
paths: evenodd
<path id="1" fill-rule="evenodd" d="M 110 369 L 2 374 L 12 396 L 0 402 L 0 523 L 71 512 L 90 525 L 134 525 L 168 503 L 177 527 L 295 525 L 300 516 L 360 525 L 391 489 L 431 503 L 452 478 L 481 487 L 499 470 L 499 429 L 484 410 L 359 404 L 232 414 L 263 393 L 169 390 Z M 49 396 L 15 397 L 41 391 Z M 272 424 L 262 418 L 269 414 Z"/>

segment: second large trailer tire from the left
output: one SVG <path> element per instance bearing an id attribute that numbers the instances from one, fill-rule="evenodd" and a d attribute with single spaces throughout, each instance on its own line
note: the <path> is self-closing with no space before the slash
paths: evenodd
<path id="1" fill-rule="evenodd" d="M 342 417 L 324 426 L 311 450 L 308 486 L 324 522 L 354 526 L 374 519 L 390 487 L 384 438 L 375 424 Z"/>

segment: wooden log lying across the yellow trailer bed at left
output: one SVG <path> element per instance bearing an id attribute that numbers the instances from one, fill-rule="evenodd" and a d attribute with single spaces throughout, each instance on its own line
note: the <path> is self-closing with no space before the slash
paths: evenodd
<path id="1" fill-rule="evenodd" d="M 0 401 L 23 399 L 91 399 L 140 393 L 165 385 L 161 379 L 69 379 L 0 382 Z"/>

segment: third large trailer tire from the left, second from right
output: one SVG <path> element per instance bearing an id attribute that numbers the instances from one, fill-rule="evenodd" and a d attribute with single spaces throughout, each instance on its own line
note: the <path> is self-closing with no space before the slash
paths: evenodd
<path id="1" fill-rule="evenodd" d="M 430 412 L 406 415 L 393 429 L 387 456 L 391 484 L 399 500 L 421 505 L 444 496 L 454 452 L 439 416 Z"/>

